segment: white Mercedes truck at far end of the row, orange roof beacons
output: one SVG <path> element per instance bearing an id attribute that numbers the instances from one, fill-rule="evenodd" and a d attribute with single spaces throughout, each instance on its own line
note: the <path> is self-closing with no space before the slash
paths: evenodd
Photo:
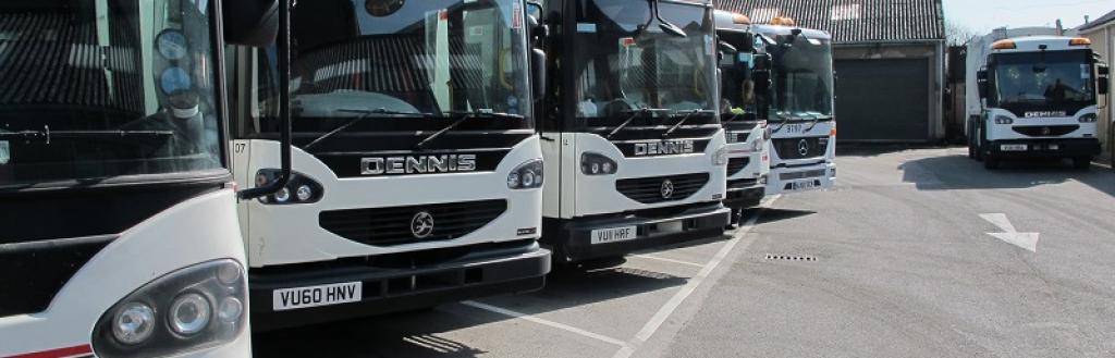
<path id="1" fill-rule="evenodd" d="M 774 18 L 754 25 L 755 88 L 770 125 L 766 194 L 828 190 L 836 181 L 832 37 Z"/>

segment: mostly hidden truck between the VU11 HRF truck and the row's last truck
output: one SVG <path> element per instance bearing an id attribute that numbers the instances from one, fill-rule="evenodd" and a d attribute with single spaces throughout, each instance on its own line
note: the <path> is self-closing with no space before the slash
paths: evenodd
<path id="1" fill-rule="evenodd" d="M 767 113 L 759 112 L 755 97 L 756 57 L 752 21 L 744 14 L 717 10 L 716 36 L 720 68 L 720 120 L 728 142 L 728 191 L 724 205 L 731 209 L 731 222 L 743 211 L 758 206 L 766 196 L 770 172 L 770 133 Z"/>

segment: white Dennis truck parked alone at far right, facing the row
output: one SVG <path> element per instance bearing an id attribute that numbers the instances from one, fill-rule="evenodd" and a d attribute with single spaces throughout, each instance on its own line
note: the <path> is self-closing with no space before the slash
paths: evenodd
<path id="1" fill-rule="evenodd" d="M 1068 158 L 1077 168 L 1090 167 L 1101 153 L 1096 95 L 1109 86 L 1092 42 L 1000 35 L 968 46 L 969 157 L 987 168 L 1015 158 Z"/>

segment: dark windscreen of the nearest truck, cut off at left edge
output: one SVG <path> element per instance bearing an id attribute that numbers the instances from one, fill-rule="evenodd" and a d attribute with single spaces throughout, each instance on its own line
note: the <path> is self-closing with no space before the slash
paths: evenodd
<path id="1" fill-rule="evenodd" d="M 209 14 L 187 0 L 0 2 L 0 190 L 221 170 Z"/>

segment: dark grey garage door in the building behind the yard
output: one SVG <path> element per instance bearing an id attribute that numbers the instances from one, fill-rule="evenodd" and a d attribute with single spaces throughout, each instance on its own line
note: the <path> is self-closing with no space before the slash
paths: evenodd
<path id="1" fill-rule="evenodd" d="M 838 60 L 838 139 L 929 139 L 929 60 Z"/>

